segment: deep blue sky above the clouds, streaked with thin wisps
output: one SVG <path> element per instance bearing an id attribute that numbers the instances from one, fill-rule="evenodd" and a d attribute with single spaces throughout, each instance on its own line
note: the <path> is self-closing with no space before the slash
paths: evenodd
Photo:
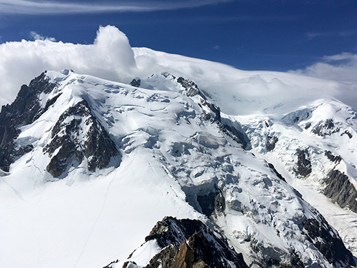
<path id="1" fill-rule="evenodd" d="M 356 17 L 355 0 L 0 0 L 0 43 L 31 40 L 34 32 L 93 43 L 99 25 L 110 24 L 133 47 L 287 71 L 357 54 Z"/>

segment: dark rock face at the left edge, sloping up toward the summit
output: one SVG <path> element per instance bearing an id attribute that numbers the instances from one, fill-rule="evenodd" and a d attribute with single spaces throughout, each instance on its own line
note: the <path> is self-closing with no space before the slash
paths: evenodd
<path id="1" fill-rule="evenodd" d="M 10 164 L 17 157 L 32 150 L 32 146 L 18 146 L 15 139 L 19 136 L 21 126 L 31 124 L 50 106 L 41 108 L 38 101 L 40 93 L 50 93 L 56 84 L 49 82 L 49 78 L 42 73 L 34 78 L 30 85 L 23 85 L 16 100 L 11 105 L 1 107 L 0 113 L 0 168 L 9 171 Z M 56 100 L 54 100 L 56 101 Z"/>

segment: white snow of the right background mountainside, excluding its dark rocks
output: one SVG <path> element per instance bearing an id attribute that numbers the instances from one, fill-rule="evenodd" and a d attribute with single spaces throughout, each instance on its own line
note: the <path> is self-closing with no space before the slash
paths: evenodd
<path id="1" fill-rule="evenodd" d="M 357 256 L 357 214 L 332 203 L 322 192 L 325 188 L 324 179 L 332 169 L 347 175 L 357 188 L 356 114 L 354 109 L 343 102 L 321 99 L 288 114 L 234 117 L 251 138 L 253 153 L 274 164 L 288 183 L 303 195 L 303 199 L 325 216 L 354 256 Z M 323 130 L 326 135 L 316 135 L 314 129 L 326 120 L 334 122 L 334 129 Z M 271 151 L 266 149 L 267 136 L 278 137 Z M 305 178 L 296 172 L 299 149 L 308 150 L 312 164 L 312 172 Z M 341 156 L 343 160 L 340 163 L 330 161 L 325 155 L 326 151 Z"/>

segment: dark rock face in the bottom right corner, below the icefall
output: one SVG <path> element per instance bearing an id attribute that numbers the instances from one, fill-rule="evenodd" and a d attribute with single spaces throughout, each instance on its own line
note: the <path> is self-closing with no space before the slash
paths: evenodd
<path id="1" fill-rule="evenodd" d="M 303 230 L 306 231 L 309 241 L 334 267 L 354 266 L 354 258 L 351 252 L 346 249 L 340 236 L 332 230 L 322 216 L 319 218 L 319 221 L 308 219 L 303 223 Z"/>

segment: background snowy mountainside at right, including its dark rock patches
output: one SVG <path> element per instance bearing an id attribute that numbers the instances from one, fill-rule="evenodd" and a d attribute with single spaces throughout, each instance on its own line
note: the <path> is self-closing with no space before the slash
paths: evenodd
<path id="1" fill-rule="evenodd" d="M 338 100 L 324 99 L 288 114 L 235 117 L 251 138 L 253 151 L 269 159 L 303 198 L 323 213 L 354 254 L 357 254 L 356 114 Z"/>

